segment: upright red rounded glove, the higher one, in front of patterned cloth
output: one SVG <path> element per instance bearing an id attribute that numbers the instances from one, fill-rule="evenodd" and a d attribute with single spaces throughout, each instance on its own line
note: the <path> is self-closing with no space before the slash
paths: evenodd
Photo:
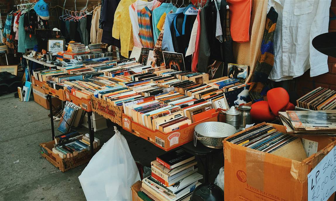
<path id="1" fill-rule="evenodd" d="M 271 89 L 267 92 L 267 102 L 274 115 L 279 116 L 279 111 L 285 111 L 289 103 L 289 95 L 282 87 Z"/>

